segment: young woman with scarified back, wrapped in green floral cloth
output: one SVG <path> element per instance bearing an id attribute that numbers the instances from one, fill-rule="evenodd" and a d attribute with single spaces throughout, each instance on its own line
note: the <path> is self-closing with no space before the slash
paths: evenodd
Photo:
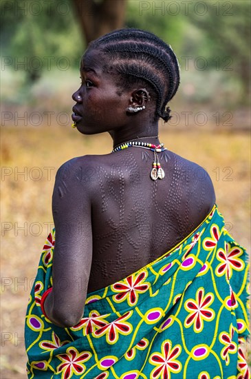
<path id="1" fill-rule="evenodd" d="M 109 132 L 113 152 L 56 175 L 25 325 L 29 378 L 249 378 L 245 251 L 208 174 L 158 136 L 179 86 L 173 50 L 116 30 L 89 45 L 80 76 L 74 126 Z"/>

